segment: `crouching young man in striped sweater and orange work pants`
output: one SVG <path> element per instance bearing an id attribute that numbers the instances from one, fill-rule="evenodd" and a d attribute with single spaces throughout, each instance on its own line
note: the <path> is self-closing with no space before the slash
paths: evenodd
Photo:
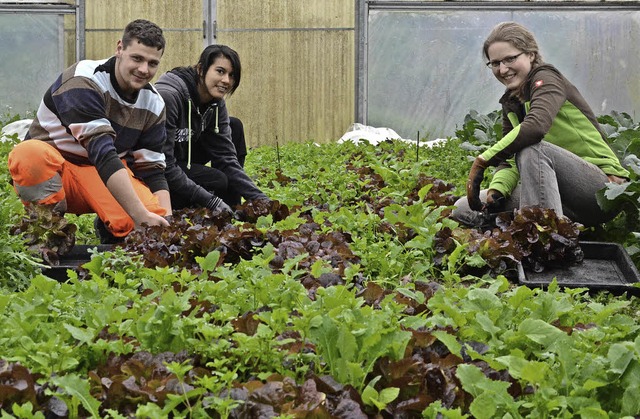
<path id="1" fill-rule="evenodd" d="M 25 141 L 9 154 L 25 205 L 96 213 L 102 243 L 142 224 L 168 225 L 165 106 L 149 84 L 164 53 L 162 30 L 129 23 L 111 58 L 77 62 L 44 95 Z"/>

